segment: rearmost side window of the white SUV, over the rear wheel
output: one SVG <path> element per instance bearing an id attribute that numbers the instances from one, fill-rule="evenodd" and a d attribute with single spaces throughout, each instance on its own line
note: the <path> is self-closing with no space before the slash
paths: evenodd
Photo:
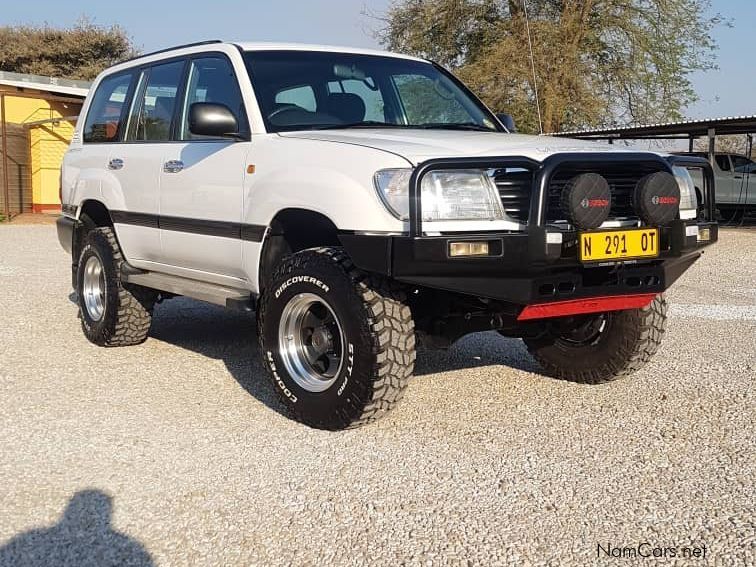
<path id="1" fill-rule="evenodd" d="M 84 142 L 103 143 L 118 140 L 123 107 L 133 78 L 132 73 L 104 79 L 94 95 L 84 123 Z"/>

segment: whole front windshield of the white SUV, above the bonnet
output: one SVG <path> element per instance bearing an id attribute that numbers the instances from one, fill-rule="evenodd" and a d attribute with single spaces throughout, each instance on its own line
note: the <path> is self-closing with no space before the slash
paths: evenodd
<path id="1" fill-rule="evenodd" d="M 320 51 L 248 51 L 245 60 L 268 132 L 501 130 L 474 96 L 431 63 Z"/>

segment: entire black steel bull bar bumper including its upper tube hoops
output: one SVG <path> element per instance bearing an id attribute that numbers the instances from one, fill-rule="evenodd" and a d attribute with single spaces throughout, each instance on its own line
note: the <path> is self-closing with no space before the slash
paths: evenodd
<path id="1" fill-rule="evenodd" d="M 590 170 L 651 164 L 700 168 L 705 179 L 703 221 L 675 221 L 660 228 L 660 255 L 649 260 L 582 264 L 578 234 L 547 219 L 549 187 L 565 165 Z M 423 230 L 419 190 L 429 171 L 455 168 L 529 168 L 533 172 L 529 220 L 522 232 L 428 235 Z M 647 153 L 557 154 L 535 163 L 518 157 L 431 160 L 410 180 L 410 227 L 406 235 L 342 234 L 341 242 L 362 269 L 408 284 L 497 300 L 517 306 L 568 302 L 582 298 L 637 296 L 667 290 L 717 241 L 714 176 L 706 160 Z M 708 235 L 703 240 L 699 235 Z M 491 256 L 452 258 L 452 242 L 486 241 Z"/>

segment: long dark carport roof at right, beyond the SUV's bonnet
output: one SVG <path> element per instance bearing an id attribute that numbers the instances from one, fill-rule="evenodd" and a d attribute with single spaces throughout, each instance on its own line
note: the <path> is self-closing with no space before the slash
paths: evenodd
<path id="1" fill-rule="evenodd" d="M 606 139 L 644 139 L 644 138 L 686 138 L 706 136 L 710 128 L 717 135 L 756 133 L 756 115 L 727 116 L 722 118 L 703 118 L 683 122 L 665 122 L 645 126 L 621 126 L 615 128 L 594 128 L 588 130 L 571 130 L 558 132 L 552 136 L 583 138 L 594 140 Z"/>

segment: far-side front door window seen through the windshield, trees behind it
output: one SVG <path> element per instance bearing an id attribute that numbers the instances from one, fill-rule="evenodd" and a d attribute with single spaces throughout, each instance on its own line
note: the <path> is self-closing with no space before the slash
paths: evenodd
<path id="1" fill-rule="evenodd" d="M 409 124 L 469 122 L 470 113 L 439 81 L 425 75 L 394 75 Z"/>

